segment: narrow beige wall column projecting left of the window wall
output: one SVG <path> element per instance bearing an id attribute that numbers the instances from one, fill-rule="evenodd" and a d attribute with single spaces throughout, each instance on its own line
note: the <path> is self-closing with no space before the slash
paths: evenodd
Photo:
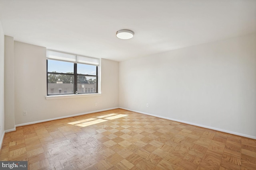
<path id="1" fill-rule="evenodd" d="M 4 129 L 15 130 L 14 122 L 14 39 L 4 36 Z"/>

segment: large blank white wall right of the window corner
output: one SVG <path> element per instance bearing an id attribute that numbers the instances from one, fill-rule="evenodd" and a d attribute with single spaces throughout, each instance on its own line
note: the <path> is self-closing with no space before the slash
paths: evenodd
<path id="1" fill-rule="evenodd" d="M 119 106 L 256 138 L 256 34 L 120 62 Z"/>

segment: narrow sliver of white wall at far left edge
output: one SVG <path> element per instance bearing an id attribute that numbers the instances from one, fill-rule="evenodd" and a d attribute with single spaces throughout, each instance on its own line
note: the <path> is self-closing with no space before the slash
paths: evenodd
<path id="1" fill-rule="evenodd" d="M 0 21 L 0 147 L 4 137 L 4 30 Z"/>

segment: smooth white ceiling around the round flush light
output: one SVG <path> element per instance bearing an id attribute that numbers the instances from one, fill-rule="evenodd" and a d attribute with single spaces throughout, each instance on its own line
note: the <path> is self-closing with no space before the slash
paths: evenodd
<path id="1" fill-rule="evenodd" d="M 254 33 L 256 0 L 0 0 L 0 21 L 16 41 L 125 61 Z"/>

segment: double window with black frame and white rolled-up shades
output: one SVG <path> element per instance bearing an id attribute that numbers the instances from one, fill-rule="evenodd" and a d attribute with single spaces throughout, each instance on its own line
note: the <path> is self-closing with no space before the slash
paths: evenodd
<path id="1" fill-rule="evenodd" d="M 99 59 L 47 50 L 47 95 L 98 93 Z"/>

